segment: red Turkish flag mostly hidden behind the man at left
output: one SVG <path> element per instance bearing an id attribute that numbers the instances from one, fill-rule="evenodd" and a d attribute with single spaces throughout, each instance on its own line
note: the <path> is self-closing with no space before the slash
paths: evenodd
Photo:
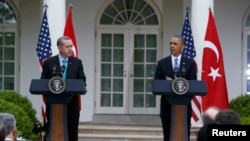
<path id="1" fill-rule="evenodd" d="M 77 44 L 76 44 L 75 30 L 74 30 L 74 25 L 73 25 L 73 20 L 72 20 L 72 7 L 69 8 L 69 12 L 68 12 L 63 35 L 71 38 L 71 40 L 74 44 L 72 56 L 78 57 L 78 49 L 77 49 Z M 79 109 L 81 110 L 81 95 L 78 95 L 78 104 L 79 104 Z"/>

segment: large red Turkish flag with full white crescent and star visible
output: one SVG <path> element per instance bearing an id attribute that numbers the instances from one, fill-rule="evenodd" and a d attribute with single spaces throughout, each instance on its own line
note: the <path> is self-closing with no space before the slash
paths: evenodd
<path id="1" fill-rule="evenodd" d="M 211 10 L 203 48 L 201 79 L 206 82 L 208 89 L 207 94 L 202 96 L 202 110 L 205 111 L 211 106 L 229 108 L 223 54 Z"/>

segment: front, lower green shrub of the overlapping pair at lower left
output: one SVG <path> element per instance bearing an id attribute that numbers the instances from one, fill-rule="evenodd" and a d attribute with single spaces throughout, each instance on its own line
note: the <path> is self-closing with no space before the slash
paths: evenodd
<path id="1" fill-rule="evenodd" d="M 36 135 L 32 132 L 34 123 L 24 109 L 14 103 L 0 99 L 0 112 L 13 114 L 16 117 L 17 132 L 21 132 L 26 139 L 35 139 Z"/>

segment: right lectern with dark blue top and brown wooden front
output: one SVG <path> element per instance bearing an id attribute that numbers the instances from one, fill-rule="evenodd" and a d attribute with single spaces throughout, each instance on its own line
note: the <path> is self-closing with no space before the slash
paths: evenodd
<path id="1" fill-rule="evenodd" d="M 207 93 L 205 81 L 188 80 L 187 93 L 178 95 L 173 91 L 172 80 L 154 80 L 153 94 L 164 95 L 172 104 L 171 130 L 169 141 L 189 141 L 187 127 L 187 105 L 194 96 L 202 96 Z"/>

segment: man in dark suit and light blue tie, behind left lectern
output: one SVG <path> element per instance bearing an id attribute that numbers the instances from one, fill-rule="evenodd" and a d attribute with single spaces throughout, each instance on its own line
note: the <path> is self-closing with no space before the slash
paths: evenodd
<path id="1" fill-rule="evenodd" d="M 63 60 L 66 60 L 66 78 L 65 79 L 82 79 L 86 86 L 86 76 L 83 69 L 82 61 L 76 57 L 72 57 L 73 42 L 67 36 L 62 36 L 57 40 L 57 48 L 59 54 L 44 61 L 41 79 L 50 79 L 55 74 L 53 70 L 62 68 Z M 49 124 L 50 105 L 46 104 L 46 115 Z M 78 124 L 80 109 L 78 103 L 78 95 L 74 95 L 67 105 L 67 121 L 68 121 L 68 138 L 69 141 L 78 140 Z M 47 125 L 47 129 L 49 126 Z M 49 130 L 49 129 L 48 129 Z"/>

